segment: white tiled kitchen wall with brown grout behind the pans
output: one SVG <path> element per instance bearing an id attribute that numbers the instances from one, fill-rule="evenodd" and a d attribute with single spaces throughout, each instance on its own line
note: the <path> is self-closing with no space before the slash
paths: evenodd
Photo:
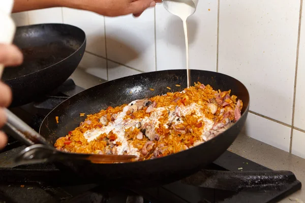
<path id="1" fill-rule="evenodd" d="M 251 113 L 243 132 L 305 158 L 305 19 L 299 25 L 300 4 L 200 1 L 188 26 L 190 67 L 231 75 L 249 89 Z M 139 18 L 104 18 L 67 8 L 13 16 L 17 25 L 63 22 L 83 29 L 87 47 L 80 65 L 102 79 L 186 67 L 182 23 L 162 5 Z"/>

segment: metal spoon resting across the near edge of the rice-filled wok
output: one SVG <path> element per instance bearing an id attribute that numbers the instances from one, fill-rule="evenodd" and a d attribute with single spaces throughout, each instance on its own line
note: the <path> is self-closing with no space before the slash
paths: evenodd
<path id="1" fill-rule="evenodd" d="M 134 155 L 76 154 L 58 151 L 51 146 L 36 144 L 22 150 L 15 161 L 20 164 L 36 164 L 51 161 L 88 160 L 92 163 L 130 162 Z"/>

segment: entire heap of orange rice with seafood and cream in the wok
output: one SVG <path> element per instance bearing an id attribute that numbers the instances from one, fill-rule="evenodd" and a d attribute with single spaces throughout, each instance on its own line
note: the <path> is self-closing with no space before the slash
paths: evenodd
<path id="1" fill-rule="evenodd" d="M 231 90 L 200 82 L 181 92 L 108 107 L 87 115 L 54 146 L 74 153 L 130 154 L 151 159 L 204 143 L 240 118 L 242 101 Z"/>

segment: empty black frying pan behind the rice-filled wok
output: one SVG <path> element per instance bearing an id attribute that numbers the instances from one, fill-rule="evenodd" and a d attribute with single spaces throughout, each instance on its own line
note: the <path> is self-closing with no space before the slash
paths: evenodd
<path id="1" fill-rule="evenodd" d="M 7 67 L 2 80 L 12 88 L 11 107 L 16 107 L 63 84 L 83 56 L 86 37 L 72 25 L 38 24 L 17 27 L 13 43 L 21 49 L 24 62 Z"/>

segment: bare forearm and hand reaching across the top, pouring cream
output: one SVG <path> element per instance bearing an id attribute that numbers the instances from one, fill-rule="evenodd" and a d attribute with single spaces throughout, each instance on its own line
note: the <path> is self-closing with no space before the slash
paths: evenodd
<path id="1" fill-rule="evenodd" d="M 13 13 L 52 7 L 68 7 L 92 11 L 104 16 L 121 16 L 131 13 L 139 16 L 147 8 L 155 6 L 154 0 L 15 0 Z"/>

